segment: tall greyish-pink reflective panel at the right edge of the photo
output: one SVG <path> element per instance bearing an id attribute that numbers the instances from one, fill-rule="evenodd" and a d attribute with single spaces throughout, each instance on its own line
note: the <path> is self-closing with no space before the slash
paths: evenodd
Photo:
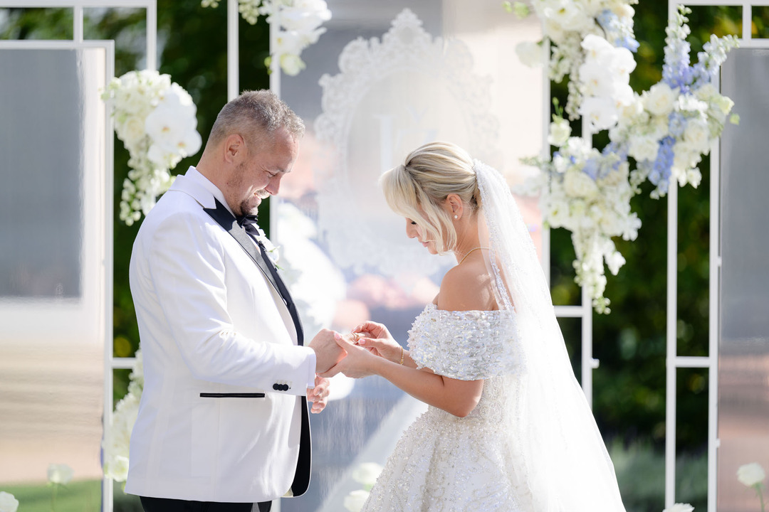
<path id="1" fill-rule="evenodd" d="M 721 138 L 721 336 L 718 347 L 718 509 L 757 510 L 737 467 L 769 468 L 769 51 L 732 51 L 721 89 L 740 114 Z"/>

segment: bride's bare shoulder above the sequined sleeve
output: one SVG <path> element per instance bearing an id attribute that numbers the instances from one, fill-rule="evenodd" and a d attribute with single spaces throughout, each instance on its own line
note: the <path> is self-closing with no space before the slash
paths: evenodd
<path id="1" fill-rule="evenodd" d="M 468 262 L 469 263 L 469 262 Z M 441 280 L 438 309 L 448 311 L 493 311 L 497 309 L 491 277 L 483 260 L 454 266 Z"/>

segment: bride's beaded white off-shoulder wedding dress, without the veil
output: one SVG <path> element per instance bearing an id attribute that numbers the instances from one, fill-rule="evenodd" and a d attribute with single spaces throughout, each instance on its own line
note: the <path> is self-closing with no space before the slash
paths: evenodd
<path id="1" fill-rule="evenodd" d="M 526 370 L 514 312 L 448 312 L 430 304 L 409 331 L 411 358 L 435 373 L 485 379 L 466 418 L 430 407 L 403 434 L 362 512 L 531 510 L 515 418 Z"/>

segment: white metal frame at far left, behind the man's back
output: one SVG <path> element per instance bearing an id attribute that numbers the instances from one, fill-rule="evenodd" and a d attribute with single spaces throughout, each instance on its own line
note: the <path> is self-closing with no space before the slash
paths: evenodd
<path id="1" fill-rule="evenodd" d="M 237 0 L 235 0 L 237 2 Z M 115 75 L 115 45 L 114 41 L 85 41 L 83 38 L 83 18 L 85 8 L 144 8 L 147 12 L 147 54 L 146 68 L 157 69 L 158 41 L 158 8 L 156 0 L 0 0 L 0 8 L 72 8 L 73 9 L 73 38 L 70 41 L 2 41 L 2 48 L 107 48 L 109 51 L 107 77 Z M 109 114 L 109 111 L 107 111 Z M 135 358 L 115 358 L 112 356 L 112 296 L 113 296 L 113 204 L 112 190 L 115 187 L 115 170 L 113 154 L 113 124 L 112 118 L 107 124 L 107 176 L 105 179 L 105 236 L 108 240 L 105 250 L 105 355 L 104 355 L 104 429 L 105 433 L 112 428 L 112 380 L 113 370 L 133 368 Z M 102 510 L 112 511 L 112 479 L 102 477 Z"/>

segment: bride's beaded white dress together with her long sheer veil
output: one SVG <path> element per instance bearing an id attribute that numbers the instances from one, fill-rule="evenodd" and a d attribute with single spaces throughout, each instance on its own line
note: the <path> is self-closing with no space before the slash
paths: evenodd
<path id="1" fill-rule="evenodd" d="M 528 226 L 504 177 L 478 160 L 473 169 L 499 311 L 428 305 L 408 345 L 420 367 L 483 379 L 483 394 L 467 418 L 430 407 L 414 421 L 362 510 L 625 512 Z"/>

